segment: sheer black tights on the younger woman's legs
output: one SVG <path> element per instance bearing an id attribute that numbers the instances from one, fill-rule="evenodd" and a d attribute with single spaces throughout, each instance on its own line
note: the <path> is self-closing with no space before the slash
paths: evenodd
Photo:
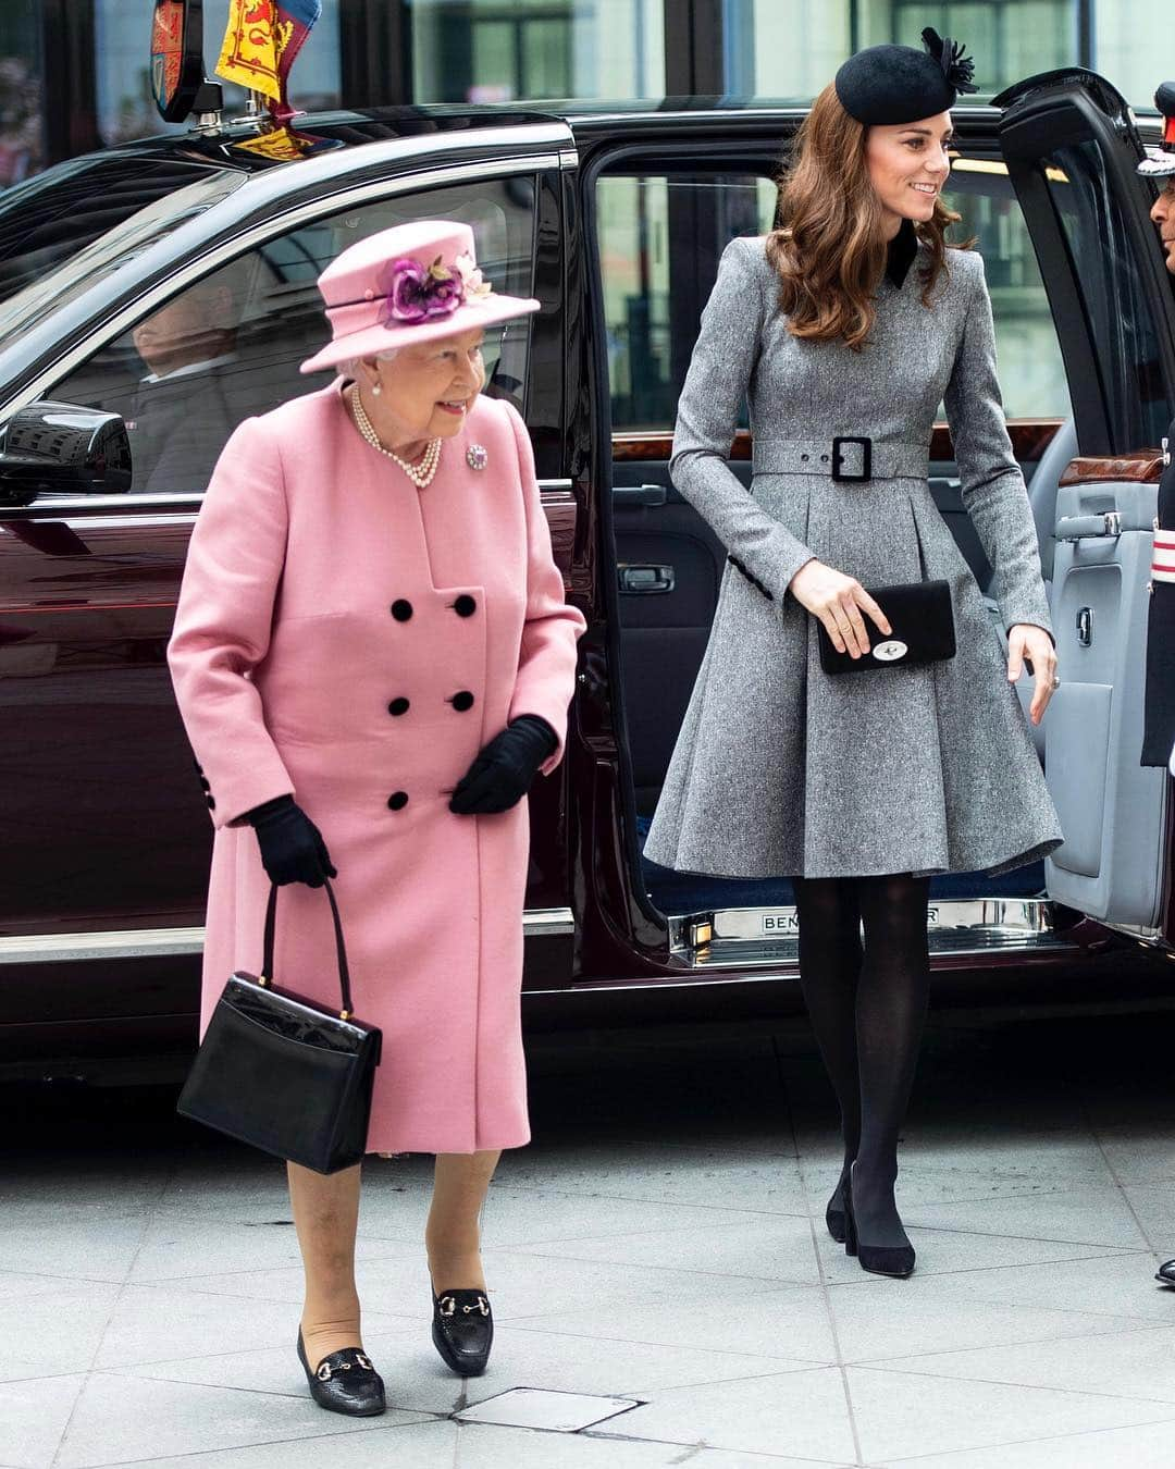
<path id="1" fill-rule="evenodd" d="M 861 1238 L 908 1244 L 893 1185 L 930 990 L 930 878 L 796 877 L 800 987 L 853 1165 Z M 861 946 L 861 924 L 865 946 Z"/>

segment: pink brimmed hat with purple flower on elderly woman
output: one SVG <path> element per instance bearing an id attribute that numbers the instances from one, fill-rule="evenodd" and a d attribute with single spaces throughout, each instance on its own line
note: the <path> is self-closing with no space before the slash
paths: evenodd
<path id="1" fill-rule="evenodd" d="M 333 332 L 301 372 L 375 357 L 538 311 L 539 303 L 501 295 L 482 279 L 473 231 L 446 219 L 380 229 L 350 245 L 319 276 Z"/>

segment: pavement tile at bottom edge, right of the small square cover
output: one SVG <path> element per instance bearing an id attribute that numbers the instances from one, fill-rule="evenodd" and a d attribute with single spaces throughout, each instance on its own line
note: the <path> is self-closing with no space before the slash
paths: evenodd
<path id="1" fill-rule="evenodd" d="M 846 1463 L 856 1459 L 837 1368 L 658 1393 L 617 1421 L 626 1438 Z M 684 1460 L 689 1463 L 689 1460 Z"/>

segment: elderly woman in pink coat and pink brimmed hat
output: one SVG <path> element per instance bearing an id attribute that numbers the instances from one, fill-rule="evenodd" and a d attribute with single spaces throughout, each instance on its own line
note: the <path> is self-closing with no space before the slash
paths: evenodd
<path id="1" fill-rule="evenodd" d="M 480 397 L 482 338 L 539 303 L 482 281 L 473 234 L 417 222 L 320 278 L 320 392 L 241 425 L 192 533 L 169 648 L 216 827 L 203 1025 L 234 970 L 336 999 L 330 877 L 355 1014 L 383 1031 L 367 1152 L 436 1155 L 433 1341 L 485 1369 L 479 1210 L 529 1141 L 520 1036 L 526 792 L 560 762 L 585 623 L 564 601 L 530 442 Z M 354 1279 L 360 1168 L 288 1165 L 311 1394 L 380 1413 Z"/>

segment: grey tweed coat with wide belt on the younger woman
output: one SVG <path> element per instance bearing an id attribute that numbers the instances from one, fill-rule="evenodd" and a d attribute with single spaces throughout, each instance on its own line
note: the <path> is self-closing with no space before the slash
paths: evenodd
<path id="1" fill-rule="evenodd" d="M 789 335 L 764 245 L 723 254 L 679 403 L 673 483 L 731 560 L 645 853 L 728 877 L 1031 862 L 1060 843 L 1056 811 L 999 630 L 927 483 L 944 400 L 1005 627 L 1052 632 L 983 260 L 949 251 L 924 307 L 919 247 L 902 286 L 881 281 L 871 342 L 852 353 Z M 751 492 L 727 464 L 743 395 Z M 872 438 L 871 479 L 830 477 L 833 435 Z M 858 473 L 859 448 L 843 452 Z M 955 658 L 828 677 L 815 618 L 787 592 L 812 557 L 865 586 L 946 579 Z"/>

